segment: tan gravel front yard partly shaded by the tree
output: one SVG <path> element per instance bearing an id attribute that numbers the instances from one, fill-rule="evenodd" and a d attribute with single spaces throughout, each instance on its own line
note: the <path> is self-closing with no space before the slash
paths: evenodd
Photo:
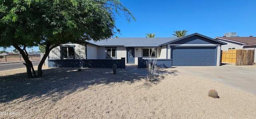
<path id="1" fill-rule="evenodd" d="M 25 68 L 0 71 L 0 119 L 256 119 L 256 95 L 178 68 L 154 82 L 126 69 L 43 69 L 31 79 Z"/>

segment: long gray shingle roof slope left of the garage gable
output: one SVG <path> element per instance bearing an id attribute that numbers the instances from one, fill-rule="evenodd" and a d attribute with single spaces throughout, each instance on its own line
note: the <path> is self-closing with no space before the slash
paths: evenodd
<path id="1" fill-rule="evenodd" d="M 124 47 L 160 47 L 178 37 L 154 37 L 154 38 L 110 38 L 101 41 L 87 41 L 98 46 L 124 46 Z"/>

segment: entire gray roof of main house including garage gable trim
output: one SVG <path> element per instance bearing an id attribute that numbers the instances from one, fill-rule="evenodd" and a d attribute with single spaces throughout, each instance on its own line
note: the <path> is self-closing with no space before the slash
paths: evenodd
<path id="1" fill-rule="evenodd" d="M 101 46 L 101 47 L 112 47 L 112 46 L 124 46 L 124 47 L 160 47 L 182 39 L 186 39 L 193 35 L 198 35 L 206 39 L 212 40 L 221 45 L 226 45 L 227 43 L 212 39 L 205 35 L 199 33 L 193 33 L 186 35 L 184 37 L 153 37 L 153 38 L 110 38 L 101 41 L 87 41 L 90 44 Z"/>

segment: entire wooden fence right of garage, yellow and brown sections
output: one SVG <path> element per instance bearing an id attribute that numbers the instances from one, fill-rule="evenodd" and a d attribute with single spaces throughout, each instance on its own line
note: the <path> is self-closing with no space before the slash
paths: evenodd
<path id="1" fill-rule="evenodd" d="M 254 50 L 230 49 L 229 51 L 222 51 L 222 62 L 253 65 Z"/>

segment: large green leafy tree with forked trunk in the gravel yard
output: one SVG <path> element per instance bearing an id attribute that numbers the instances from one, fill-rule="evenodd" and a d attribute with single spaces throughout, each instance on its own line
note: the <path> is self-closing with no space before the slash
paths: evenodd
<path id="1" fill-rule="evenodd" d="M 27 68 L 28 78 L 36 77 L 26 48 L 43 45 L 45 54 L 63 43 L 103 40 L 114 35 L 116 15 L 122 12 L 128 22 L 131 12 L 119 0 L 0 0 L 0 46 L 17 49 Z M 33 72 L 33 73 L 32 73 Z"/>

